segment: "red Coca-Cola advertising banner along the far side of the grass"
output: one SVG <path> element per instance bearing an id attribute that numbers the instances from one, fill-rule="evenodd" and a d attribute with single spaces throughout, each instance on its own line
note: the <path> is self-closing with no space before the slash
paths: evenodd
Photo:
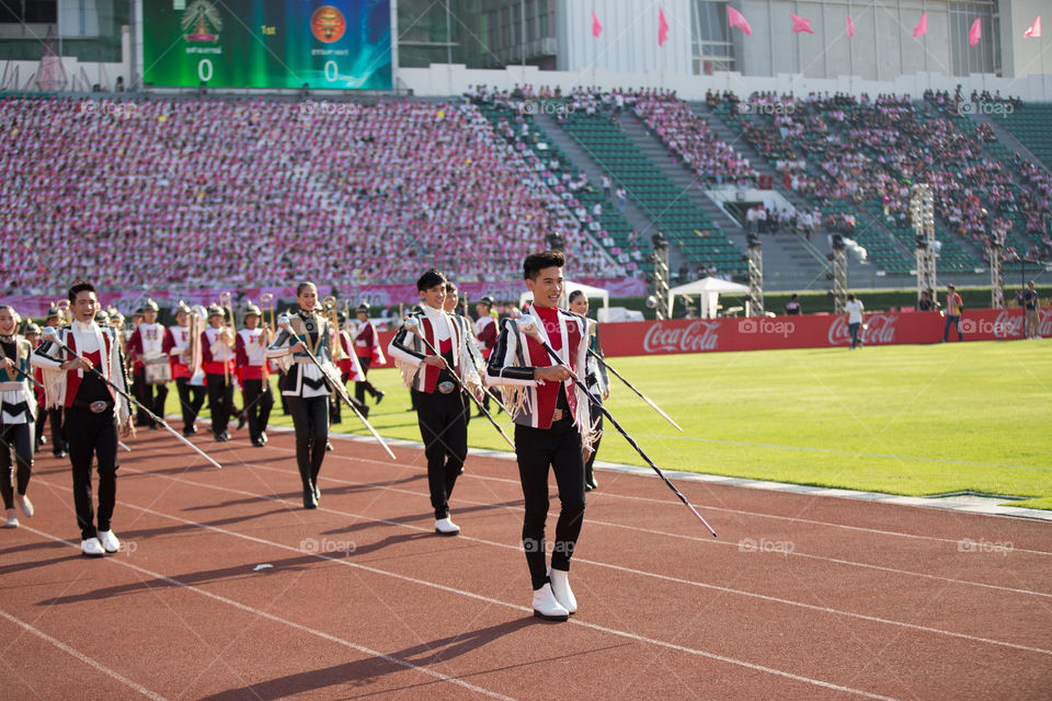
<path id="1" fill-rule="evenodd" d="M 1052 309 L 1039 310 L 1038 333 L 1052 336 Z M 938 312 L 878 312 L 866 314 L 862 342 L 867 345 L 938 343 L 946 318 Z M 964 341 L 1022 338 L 1021 309 L 970 309 L 961 318 Z M 393 332 L 380 332 L 384 347 Z M 849 346 L 851 334 L 844 314 L 755 317 L 750 319 L 674 319 L 603 324 L 603 350 L 609 357 L 670 353 L 718 353 L 777 348 Z M 957 329 L 949 338 L 956 342 Z"/>

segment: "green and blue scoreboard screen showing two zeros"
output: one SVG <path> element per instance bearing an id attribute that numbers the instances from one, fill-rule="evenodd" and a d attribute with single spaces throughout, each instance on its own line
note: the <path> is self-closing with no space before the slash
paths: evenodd
<path id="1" fill-rule="evenodd" d="M 390 90 L 390 0 L 150 0 L 142 80 Z"/>

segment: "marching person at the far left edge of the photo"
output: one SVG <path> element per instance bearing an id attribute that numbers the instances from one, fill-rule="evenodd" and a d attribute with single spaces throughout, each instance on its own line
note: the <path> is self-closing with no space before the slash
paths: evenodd
<path id="1" fill-rule="evenodd" d="M 25 516 L 33 516 L 33 503 L 25 495 L 33 473 L 33 428 L 36 424 L 36 394 L 30 387 L 30 357 L 33 346 L 18 335 L 19 314 L 0 306 L 0 494 L 8 509 L 8 528 L 18 528 L 15 502 Z M 11 489 L 11 453 L 14 452 L 15 490 Z M 16 493 L 15 493 L 16 492 Z"/>

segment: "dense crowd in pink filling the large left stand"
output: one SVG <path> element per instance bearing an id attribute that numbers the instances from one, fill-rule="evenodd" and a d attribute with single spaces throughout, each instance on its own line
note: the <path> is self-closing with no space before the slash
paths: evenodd
<path id="1" fill-rule="evenodd" d="M 516 277 L 610 264 L 470 103 L 0 100 L 8 294 Z"/>

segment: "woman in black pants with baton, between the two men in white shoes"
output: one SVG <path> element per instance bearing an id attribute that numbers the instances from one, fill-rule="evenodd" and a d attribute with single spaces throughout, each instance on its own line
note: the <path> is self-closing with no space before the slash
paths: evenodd
<path id="1" fill-rule="evenodd" d="M 307 355 L 309 349 L 319 363 L 332 366 L 330 344 L 332 331 L 318 307 L 318 288 L 313 283 L 300 283 L 296 287 L 299 309 L 289 318 L 288 329 L 277 332 L 274 343 L 266 349 L 266 357 L 293 356 L 293 364 L 285 374 L 282 394 L 288 402 L 296 428 L 296 464 L 304 485 L 304 508 L 318 508 L 321 490 L 318 474 L 325 459 L 329 443 L 329 394 L 331 392 L 322 371 Z"/>

